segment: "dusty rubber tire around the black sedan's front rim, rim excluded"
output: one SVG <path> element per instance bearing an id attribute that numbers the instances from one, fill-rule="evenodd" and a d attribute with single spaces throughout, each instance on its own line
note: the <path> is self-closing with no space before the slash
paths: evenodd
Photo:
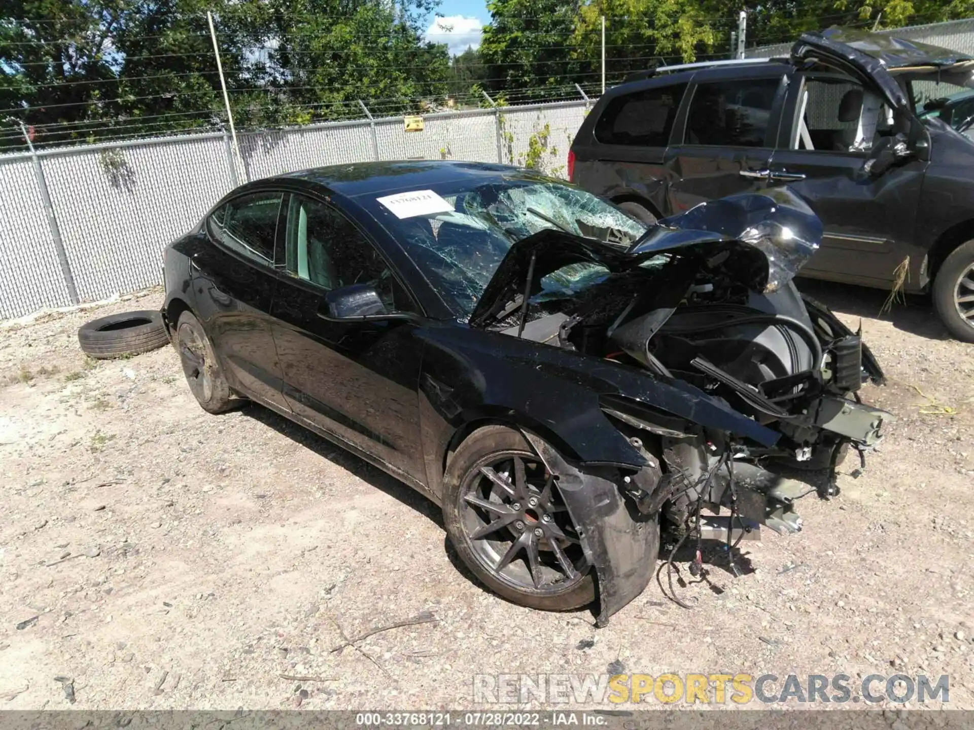
<path id="1" fill-rule="evenodd" d="M 510 602 L 550 611 L 572 610 L 593 602 L 595 579 L 591 566 L 585 576 L 564 593 L 534 593 L 529 589 L 515 589 L 498 579 L 474 553 L 462 525 L 460 500 L 471 469 L 486 456 L 498 452 L 522 452 L 525 456 L 537 457 L 519 431 L 504 425 L 489 425 L 471 433 L 450 458 L 443 476 L 442 504 L 443 524 L 454 549 L 477 580 Z"/>

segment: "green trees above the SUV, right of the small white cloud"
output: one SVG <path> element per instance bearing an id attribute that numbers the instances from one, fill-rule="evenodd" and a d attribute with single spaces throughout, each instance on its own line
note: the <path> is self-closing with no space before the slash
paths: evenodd
<path id="1" fill-rule="evenodd" d="M 748 13 L 752 47 L 790 43 L 806 30 L 832 25 L 892 28 L 967 18 L 974 15 L 974 0 L 493 0 L 487 8 L 492 19 L 480 51 L 489 64 L 489 86 L 543 98 L 574 83 L 598 91 L 603 17 L 612 84 L 664 62 L 729 57 L 740 10 Z M 549 47 L 566 37 L 552 53 Z"/>

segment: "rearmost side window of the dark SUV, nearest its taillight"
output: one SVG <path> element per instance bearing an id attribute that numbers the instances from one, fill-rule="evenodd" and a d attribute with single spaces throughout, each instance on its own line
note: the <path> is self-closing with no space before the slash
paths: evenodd
<path id="1" fill-rule="evenodd" d="M 603 144 L 665 147 L 686 84 L 636 91 L 613 99 L 595 123 Z"/>

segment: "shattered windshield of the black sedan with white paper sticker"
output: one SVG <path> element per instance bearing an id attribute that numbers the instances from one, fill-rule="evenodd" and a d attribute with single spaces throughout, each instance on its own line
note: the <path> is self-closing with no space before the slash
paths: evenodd
<path id="1" fill-rule="evenodd" d="M 624 250 L 647 230 L 608 201 L 555 181 L 491 179 L 436 184 L 358 201 L 399 241 L 458 316 L 467 316 L 510 246 L 544 229 L 595 238 Z M 605 274 L 576 264 L 543 279 L 578 290 Z"/>

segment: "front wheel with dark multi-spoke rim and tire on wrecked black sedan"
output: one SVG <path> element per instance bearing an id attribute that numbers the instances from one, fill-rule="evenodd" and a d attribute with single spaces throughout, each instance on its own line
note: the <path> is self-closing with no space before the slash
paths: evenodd
<path id="1" fill-rule="evenodd" d="M 592 567 L 549 474 L 513 428 L 478 428 L 444 475 L 443 522 L 480 582 L 510 602 L 546 611 L 595 600 Z"/>

